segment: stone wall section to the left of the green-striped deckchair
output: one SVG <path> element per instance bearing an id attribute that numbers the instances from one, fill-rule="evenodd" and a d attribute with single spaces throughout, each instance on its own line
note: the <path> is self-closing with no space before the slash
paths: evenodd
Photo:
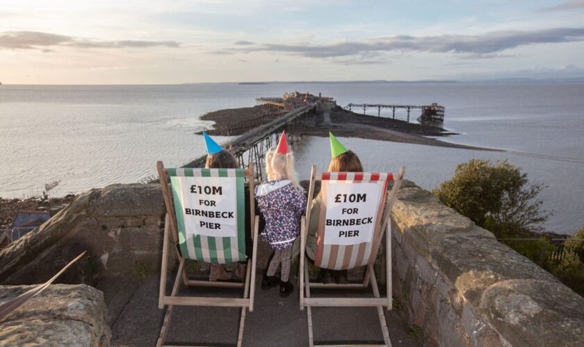
<path id="1" fill-rule="evenodd" d="M 158 271 L 163 203 L 160 185 L 108 185 L 80 194 L 47 223 L 0 251 L 0 283 L 44 282 L 82 251 L 59 278 L 91 283 L 131 271 Z"/>

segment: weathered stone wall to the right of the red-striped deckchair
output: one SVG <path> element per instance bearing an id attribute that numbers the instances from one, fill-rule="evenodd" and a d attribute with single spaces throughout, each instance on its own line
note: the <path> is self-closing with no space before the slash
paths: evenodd
<path id="1" fill-rule="evenodd" d="M 394 207 L 394 298 L 424 346 L 584 346 L 584 298 L 423 189 Z"/>

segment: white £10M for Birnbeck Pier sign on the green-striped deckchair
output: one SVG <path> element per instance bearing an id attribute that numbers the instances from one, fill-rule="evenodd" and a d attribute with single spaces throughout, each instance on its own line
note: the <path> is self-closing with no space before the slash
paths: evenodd
<path id="1" fill-rule="evenodd" d="M 179 197 L 187 236 L 237 235 L 236 177 L 181 176 L 175 179 L 179 181 Z"/>

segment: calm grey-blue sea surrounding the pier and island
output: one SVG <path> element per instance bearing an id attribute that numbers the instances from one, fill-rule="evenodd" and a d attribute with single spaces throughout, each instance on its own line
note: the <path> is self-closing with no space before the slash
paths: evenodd
<path id="1" fill-rule="evenodd" d="M 291 90 L 322 92 L 339 105 L 438 102 L 446 106 L 446 128 L 461 133 L 448 141 L 509 152 L 342 141 L 366 169 L 405 165 L 407 178 L 428 189 L 469 158 L 508 158 L 549 185 L 541 195 L 555 213 L 547 228 L 570 234 L 584 226 L 584 84 L 3 85 L 0 196 L 38 194 L 53 181 L 60 184 L 52 195 L 136 182 L 155 174 L 156 160 L 179 166 L 204 153 L 202 137 L 193 133 L 212 126 L 199 120 L 205 112 L 251 106 L 257 96 Z M 301 176 L 311 164 L 325 169 L 327 139 L 309 137 L 297 158 Z"/>

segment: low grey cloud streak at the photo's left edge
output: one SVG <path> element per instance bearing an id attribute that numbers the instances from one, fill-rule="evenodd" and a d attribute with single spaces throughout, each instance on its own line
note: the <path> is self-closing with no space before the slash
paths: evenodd
<path id="1" fill-rule="evenodd" d="M 49 47 L 63 46 L 76 48 L 147 48 L 154 46 L 179 47 L 175 41 L 143 40 L 90 40 L 66 35 L 42 33 L 39 31 L 5 31 L 0 33 L 0 49 L 39 49 L 52 51 Z"/>

